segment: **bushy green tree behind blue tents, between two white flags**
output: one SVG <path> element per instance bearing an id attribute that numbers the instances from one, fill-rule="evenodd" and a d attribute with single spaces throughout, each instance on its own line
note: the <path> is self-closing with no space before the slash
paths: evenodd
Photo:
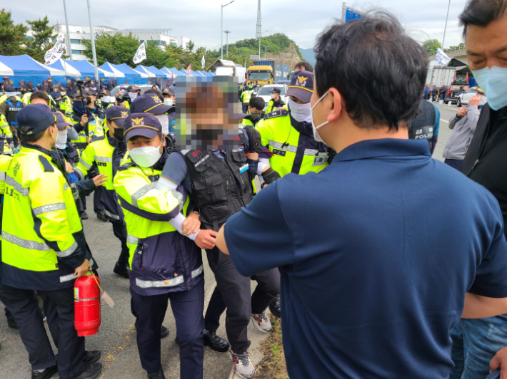
<path id="1" fill-rule="evenodd" d="M 83 55 L 86 58 L 93 58 L 91 51 L 91 41 L 83 40 L 86 50 L 83 51 Z M 132 61 L 137 48 L 139 47 L 139 41 L 132 36 L 132 33 L 124 35 L 121 33 L 102 34 L 95 38 L 95 51 L 97 55 L 97 64 L 99 66 L 106 62 L 119 65 L 126 63 L 131 67 L 136 65 Z M 147 55 L 147 54 L 146 54 Z"/>

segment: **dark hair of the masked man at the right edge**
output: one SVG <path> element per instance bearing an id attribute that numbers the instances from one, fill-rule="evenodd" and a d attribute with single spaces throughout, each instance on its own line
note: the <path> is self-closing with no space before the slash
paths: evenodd
<path id="1" fill-rule="evenodd" d="M 466 37 L 468 25 L 485 28 L 506 15 L 507 0 L 469 0 L 459 15 L 459 24 L 463 26 L 463 37 Z"/>

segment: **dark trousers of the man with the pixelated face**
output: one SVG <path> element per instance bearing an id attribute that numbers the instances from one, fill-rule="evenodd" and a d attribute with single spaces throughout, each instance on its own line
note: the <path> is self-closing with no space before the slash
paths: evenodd
<path id="1" fill-rule="evenodd" d="M 280 294 L 280 271 L 271 269 L 256 274 L 253 279 L 257 281 L 257 287 L 251 295 L 250 278 L 239 274 L 229 255 L 217 247 L 206 250 L 206 254 L 215 274 L 216 288 L 206 310 L 204 327 L 215 332 L 220 325 L 220 316 L 226 310 L 227 339 L 232 351 L 244 353 L 250 347 L 247 327 L 251 313 L 262 313 Z M 218 260 L 214 259 L 216 255 Z"/>

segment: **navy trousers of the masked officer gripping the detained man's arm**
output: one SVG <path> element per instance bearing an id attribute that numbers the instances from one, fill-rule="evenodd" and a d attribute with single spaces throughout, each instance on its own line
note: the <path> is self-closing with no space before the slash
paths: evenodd
<path id="1" fill-rule="evenodd" d="M 131 289 L 130 293 L 142 368 L 148 373 L 157 373 L 161 368 L 160 329 L 170 300 L 180 346 L 180 378 L 201 379 L 204 360 L 204 279 L 189 291 L 142 296 Z"/>

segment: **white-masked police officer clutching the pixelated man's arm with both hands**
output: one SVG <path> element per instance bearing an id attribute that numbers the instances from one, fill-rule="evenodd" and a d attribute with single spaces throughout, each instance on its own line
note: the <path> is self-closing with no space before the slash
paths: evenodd
<path id="1" fill-rule="evenodd" d="M 168 157 L 161 130 L 149 113 L 129 115 L 124 123 L 129 157 L 114 177 L 128 232 L 137 346 L 148 378 L 164 379 L 160 333 L 170 300 L 180 344 L 180 377 L 202 378 L 204 273 L 201 250 L 191 240 L 200 234 L 199 221 L 189 219 L 194 225 L 191 236 L 180 234 L 189 210 L 186 190 L 156 190 Z"/>

